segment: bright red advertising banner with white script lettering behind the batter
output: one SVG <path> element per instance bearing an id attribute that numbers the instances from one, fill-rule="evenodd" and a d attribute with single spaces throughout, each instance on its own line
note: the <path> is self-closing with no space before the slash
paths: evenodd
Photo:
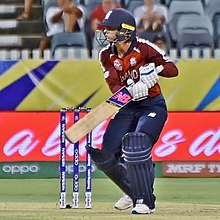
<path id="1" fill-rule="evenodd" d="M 0 112 L 0 162 L 58 161 L 59 112 Z M 73 121 L 67 114 L 67 126 Z M 101 148 L 108 121 L 93 131 L 93 146 Z M 114 138 L 114 137 L 113 137 Z M 80 157 L 85 155 L 85 140 Z M 67 159 L 73 146 L 66 143 Z M 220 112 L 170 112 L 153 148 L 154 161 L 220 161 Z"/>

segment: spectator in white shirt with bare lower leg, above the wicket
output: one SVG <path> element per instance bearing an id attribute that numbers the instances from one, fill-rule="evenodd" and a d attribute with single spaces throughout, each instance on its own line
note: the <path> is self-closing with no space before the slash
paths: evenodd
<path id="1" fill-rule="evenodd" d="M 80 31 L 79 22 L 82 23 L 80 19 L 83 19 L 82 6 L 72 0 L 57 0 L 57 3 L 57 6 L 48 8 L 45 15 L 46 33 L 39 45 L 41 54 L 50 47 L 54 34 Z"/>

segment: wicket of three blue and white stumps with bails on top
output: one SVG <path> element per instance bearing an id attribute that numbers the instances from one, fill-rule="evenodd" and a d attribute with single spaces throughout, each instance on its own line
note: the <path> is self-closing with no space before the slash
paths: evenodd
<path id="1" fill-rule="evenodd" d="M 88 113 L 91 109 L 86 107 L 73 108 L 66 107 L 60 110 L 60 208 L 70 208 L 66 204 L 66 123 L 67 112 L 73 112 L 73 121 L 76 123 L 80 119 L 80 113 Z M 86 135 L 86 145 L 92 144 L 92 132 Z M 72 208 L 79 208 L 79 142 L 73 144 L 73 194 Z M 85 208 L 91 208 L 92 202 L 92 162 L 90 155 L 86 152 L 86 188 L 85 188 Z"/>

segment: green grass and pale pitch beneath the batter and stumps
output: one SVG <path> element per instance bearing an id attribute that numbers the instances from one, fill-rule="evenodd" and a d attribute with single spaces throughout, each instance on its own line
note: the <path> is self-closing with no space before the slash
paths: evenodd
<path id="1" fill-rule="evenodd" d="M 0 219 L 220 219 L 220 178 L 156 178 L 157 210 L 152 215 L 131 215 L 131 210 L 114 209 L 121 191 L 108 179 L 93 180 L 92 209 L 84 209 L 85 181 L 80 181 L 80 208 L 61 210 L 58 179 L 1 179 Z M 70 192 L 70 179 L 68 189 Z M 68 197 L 70 201 L 70 193 Z"/>

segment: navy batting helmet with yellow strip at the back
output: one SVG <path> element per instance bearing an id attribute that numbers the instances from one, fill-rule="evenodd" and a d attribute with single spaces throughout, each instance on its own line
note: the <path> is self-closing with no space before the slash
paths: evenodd
<path id="1" fill-rule="evenodd" d="M 124 8 L 109 11 L 100 23 L 105 27 L 116 28 L 118 41 L 133 40 L 136 36 L 136 23 L 132 13 Z"/>

